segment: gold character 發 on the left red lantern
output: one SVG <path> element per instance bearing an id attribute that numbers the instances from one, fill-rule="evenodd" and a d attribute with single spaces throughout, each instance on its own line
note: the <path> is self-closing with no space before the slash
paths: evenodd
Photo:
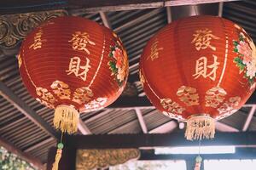
<path id="1" fill-rule="evenodd" d="M 90 51 L 86 48 L 87 43 L 95 45 L 95 42 L 90 41 L 90 35 L 87 32 L 76 31 L 72 36 L 73 38 L 68 42 L 73 42 L 73 49 L 84 50 L 87 54 L 90 54 Z"/>

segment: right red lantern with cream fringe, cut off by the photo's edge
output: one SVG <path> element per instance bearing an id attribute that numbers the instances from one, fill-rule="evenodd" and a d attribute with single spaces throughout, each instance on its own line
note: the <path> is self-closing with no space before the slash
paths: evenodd
<path id="1" fill-rule="evenodd" d="M 240 26 L 214 16 L 177 20 L 150 39 L 140 79 L 151 103 L 187 122 L 187 139 L 213 138 L 215 120 L 253 94 L 256 48 Z"/>

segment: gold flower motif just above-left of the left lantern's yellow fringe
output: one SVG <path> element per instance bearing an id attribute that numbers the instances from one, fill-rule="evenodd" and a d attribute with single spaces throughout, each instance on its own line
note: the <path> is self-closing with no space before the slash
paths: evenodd
<path id="1" fill-rule="evenodd" d="M 61 82 L 56 80 L 52 82 L 50 88 L 53 89 L 53 92 L 60 98 L 60 99 L 70 99 L 70 89 L 65 82 Z"/>

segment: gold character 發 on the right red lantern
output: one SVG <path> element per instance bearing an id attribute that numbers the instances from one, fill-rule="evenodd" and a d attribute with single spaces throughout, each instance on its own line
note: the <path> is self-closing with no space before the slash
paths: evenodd
<path id="1" fill-rule="evenodd" d="M 195 48 L 197 51 L 206 48 L 211 48 L 213 51 L 216 50 L 216 47 L 211 45 L 211 40 L 219 39 L 219 37 L 214 36 L 211 30 L 207 28 L 204 30 L 196 30 L 193 36 L 194 39 L 191 43 L 195 43 Z"/>

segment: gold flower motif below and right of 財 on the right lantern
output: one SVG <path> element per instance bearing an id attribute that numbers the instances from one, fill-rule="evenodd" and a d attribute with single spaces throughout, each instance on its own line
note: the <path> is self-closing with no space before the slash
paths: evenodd
<path id="1" fill-rule="evenodd" d="M 206 106 L 217 108 L 224 101 L 226 94 L 224 88 L 214 87 L 209 89 L 206 95 Z"/>

